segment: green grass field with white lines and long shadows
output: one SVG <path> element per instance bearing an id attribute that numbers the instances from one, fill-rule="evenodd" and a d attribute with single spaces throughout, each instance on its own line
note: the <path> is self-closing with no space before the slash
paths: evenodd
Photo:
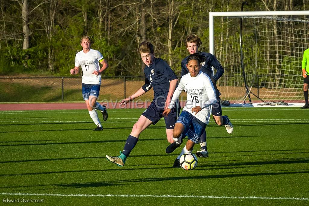
<path id="1" fill-rule="evenodd" d="M 181 149 L 165 153 L 164 120 L 142 133 L 124 167 L 108 162 L 142 111 L 109 110 L 104 131 L 92 131 L 87 110 L 0 112 L 0 202 L 309 205 L 309 110 L 223 108 L 234 132 L 211 121 L 210 157 L 195 170 L 171 168 Z"/>

